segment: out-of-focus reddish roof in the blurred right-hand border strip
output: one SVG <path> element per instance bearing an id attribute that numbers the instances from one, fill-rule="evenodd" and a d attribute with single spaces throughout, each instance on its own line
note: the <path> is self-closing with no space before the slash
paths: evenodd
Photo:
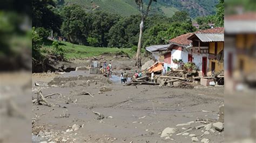
<path id="1" fill-rule="evenodd" d="M 226 16 L 225 20 L 256 20 L 256 12 L 247 12 L 240 15 Z"/>

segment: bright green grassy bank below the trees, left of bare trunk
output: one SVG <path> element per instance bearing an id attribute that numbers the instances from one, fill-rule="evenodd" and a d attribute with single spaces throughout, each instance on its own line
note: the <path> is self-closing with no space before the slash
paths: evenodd
<path id="1" fill-rule="evenodd" d="M 52 48 L 52 41 L 46 40 L 43 42 L 43 46 Z M 87 58 L 92 56 L 99 56 L 104 53 L 116 54 L 120 52 L 124 52 L 129 54 L 132 58 L 134 56 L 134 52 L 131 52 L 131 48 L 109 48 L 109 47 L 90 47 L 83 45 L 71 44 L 70 42 L 59 42 L 59 46 L 63 47 L 65 50 L 65 58 Z"/>

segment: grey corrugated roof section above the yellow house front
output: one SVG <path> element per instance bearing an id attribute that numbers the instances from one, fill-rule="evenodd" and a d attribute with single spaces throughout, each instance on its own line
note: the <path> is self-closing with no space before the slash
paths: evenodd
<path id="1" fill-rule="evenodd" d="M 224 33 L 196 33 L 202 42 L 224 42 Z"/>

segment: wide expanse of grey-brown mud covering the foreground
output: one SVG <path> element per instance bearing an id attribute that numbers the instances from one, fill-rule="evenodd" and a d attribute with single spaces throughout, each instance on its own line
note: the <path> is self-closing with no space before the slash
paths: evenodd
<path id="1" fill-rule="evenodd" d="M 111 59 L 109 62 L 116 74 L 121 72 L 122 65 L 133 67 L 133 61 L 129 59 Z M 79 61 L 79 64 L 86 63 Z M 214 123 L 218 119 L 219 106 L 224 104 L 223 87 L 194 87 L 178 89 L 157 85 L 124 86 L 116 76 L 109 79 L 102 75 L 90 75 L 87 70 L 64 74 L 33 74 L 32 98 L 37 98 L 35 93 L 39 90 L 42 90 L 43 95 L 58 92 L 62 96 L 46 98 L 52 105 L 50 107 L 32 105 L 32 140 L 192 142 L 189 135 L 176 134 L 189 127 L 205 125 L 204 121 Z M 93 112 L 100 113 L 100 116 Z M 176 126 L 190 121 L 191 124 Z M 71 130 L 72 126 L 76 131 Z M 177 128 L 170 139 L 160 138 L 166 127 Z M 195 134 L 199 142 L 203 138 L 210 139 L 210 142 L 224 141 L 224 132 L 210 132 L 201 137 L 204 131 L 204 128 L 200 128 L 188 132 Z"/>

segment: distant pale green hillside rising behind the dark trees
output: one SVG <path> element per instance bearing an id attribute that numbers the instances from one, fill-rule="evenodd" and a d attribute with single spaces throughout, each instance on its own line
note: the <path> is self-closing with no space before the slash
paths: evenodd
<path id="1" fill-rule="evenodd" d="M 58 5 L 78 4 L 88 11 L 104 10 L 110 13 L 119 13 L 122 16 L 139 14 L 134 0 L 56 0 Z M 149 0 L 145 0 L 147 3 Z M 192 18 L 212 15 L 218 0 L 159 0 L 151 6 L 150 14 L 158 13 L 172 17 L 174 12 L 185 10 Z"/>

